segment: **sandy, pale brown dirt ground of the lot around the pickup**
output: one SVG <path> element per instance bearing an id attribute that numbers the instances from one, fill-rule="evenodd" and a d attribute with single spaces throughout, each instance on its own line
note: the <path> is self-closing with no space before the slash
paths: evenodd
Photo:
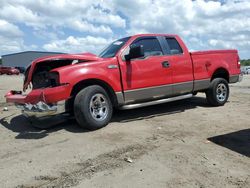
<path id="1" fill-rule="evenodd" d="M 3 111 L 3 95 L 21 86 L 0 76 L 1 187 L 250 187 L 250 76 L 223 107 L 198 94 L 116 111 L 94 132 L 74 120 L 39 130 L 14 106 Z"/>

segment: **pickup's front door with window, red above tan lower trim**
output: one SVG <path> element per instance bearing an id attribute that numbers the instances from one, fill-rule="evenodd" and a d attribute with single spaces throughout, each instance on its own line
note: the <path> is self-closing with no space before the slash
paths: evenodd
<path id="1" fill-rule="evenodd" d="M 143 46 L 143 58 L 126 61 L 129 46 Z M 172 69 L 164 56 L 158 37 L 135 39 L 120 57 L 122 85 L 126 103 L 152 100 L 172 95 Z"/>

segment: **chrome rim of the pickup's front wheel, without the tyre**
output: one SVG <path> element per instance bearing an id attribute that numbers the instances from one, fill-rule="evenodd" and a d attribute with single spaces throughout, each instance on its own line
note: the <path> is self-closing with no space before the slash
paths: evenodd
<path id="1" fill-rule="evenodd" d="M 89 110 L 91 116 L 96 121 L 103 121 L 109 113 L 106 97 L 101 93 L 92 96 L 89 104 Z"/>

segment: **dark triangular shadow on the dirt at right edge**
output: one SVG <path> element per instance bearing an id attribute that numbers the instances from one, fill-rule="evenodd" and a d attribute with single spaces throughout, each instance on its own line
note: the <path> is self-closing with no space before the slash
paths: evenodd
<path id="1" fill-rule="evenodd" d="M 209 141 L 250 157 L 250 129 L 208 138 Z"/>

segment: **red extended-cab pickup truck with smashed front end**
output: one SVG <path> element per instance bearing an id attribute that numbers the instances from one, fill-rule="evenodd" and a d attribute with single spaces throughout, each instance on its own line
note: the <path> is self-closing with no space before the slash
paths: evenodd
<path id="1" fill-rule="evenodd" d="M 10 91 L 6 100 L 33 122 L 70 113 L 93 130 L 109 123 L 113 108 L 139 108 L 197 92 L 205 92 L 212 106 L 224 105 L 228 83 L 240 79 L 237 50 L 190 53 L 177 35 L 140 34 L 112 42 L 99 56 L 37 59 L 25 73 L 23 90 L 31 85 L 32 91 Z"/>

